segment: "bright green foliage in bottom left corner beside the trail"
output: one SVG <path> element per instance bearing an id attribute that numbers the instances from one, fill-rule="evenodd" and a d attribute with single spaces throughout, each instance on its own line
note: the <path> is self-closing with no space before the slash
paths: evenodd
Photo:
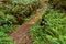
<path id="1" fill-rule="evenodd" d="M 6 33 L 0 32 L 0 44 L 14 44 L 11 37 L 8 37 Z"/>

